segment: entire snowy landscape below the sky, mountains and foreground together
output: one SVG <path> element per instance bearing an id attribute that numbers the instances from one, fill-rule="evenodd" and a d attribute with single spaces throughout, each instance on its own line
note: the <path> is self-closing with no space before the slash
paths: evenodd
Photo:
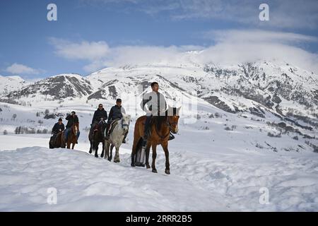
<path id="1" fill-rule="evenodd" d="M 6 151 L 0 167 L 6 170 L 0 174 L 0 210 L 136 210 L 142 201 L 137 210 L 317 211 L 317 75 L 279 61 L 186 63 L 63 74 L 1 95 L 0 151 Z M 169 142 L 169 177 L 161 175 L 162 148 L 158 174 L 130 168 L 134 121 L 144 112 L 125 97 L 141 98 L 152 81 L 170 103 L 192 98 L 197 105 L 182 105 L 179 132 Z M 117 97 L 132 119 L 120 163 L 88 154 L 93 112 L 100 102 L 109 111 Z M 57 118 L 72 110 L 80 121 L 76 150 L 47 149 Z M 194 123 L 184 121 L 188 112 Z M 51 186 L 65 194 L 59 205 L 43 204 L 42 188 Z M 269 190 L 268 205 L 259 201 L 261 189 Z"/>

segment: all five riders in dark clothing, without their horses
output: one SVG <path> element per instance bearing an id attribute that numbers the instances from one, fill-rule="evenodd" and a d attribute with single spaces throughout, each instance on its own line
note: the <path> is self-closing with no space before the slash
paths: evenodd
<path id="1" fill-rule="evenodd" d="M 167 103 L 165 101 L 165 97 L 163 94 L 159 93 L 159 85 L 157 82 L 151 83 L 151 93 L 146 93 L 143 95 L 143 100 L 141 101 L 141 109 L 143 109 L 144 112 L 146 112 L 146 122 L 145 122 L 145 128 L 144 128 L 144 140 L 147 140 L 148 137 L 150 136 L 149 134 L 149 128 L 150 128 L 150 122 L 151 122 L 151 117 L 152 116 L 160 116 L 164 115 L 166 108 L 167 108 Z M 108 140 L 110 138 L 110 131 L 112 127 L 112 122 L 117 121 L 117 119 L 122 119 L 122 114 L 126 114 L 126 111 L 124 107 L 122 107 L 122 100 L 117 99 L 116 100 L 116 105 L 112 106 L 110 109 L 110 114 L 107 116 L 107 111 L 104 109 L 102 104 L 98 105 L 98 109 L 95 110 L 93 119 L 92 119 L 92 124 L 90 124 L 90 134 L 93 134 L 96 126 L 100 124 L 100 121 L 103 123 L 106 123 L 106 136 L 105 139 Z M 65 118 L 67 121 L 66 126 L 63 124 L 63 120 L 59 118 L 58 122 L 54 124 L 53 129 L 52 129 L 52 139 L 57 137 L 57 134 L 63 132 L 64 134 L 64 141 L 67 141 L 69 131 L 71 131 L 71 126 L 73 124 L 78 123 L 78 117 L 76 115 L 76 112 L 71 112 L 71 114 L 68 114 L 67 117 Z M 106 122 L 107 120 L 107 122 Z M 126 135 L 124 136 L 124 140 L 122 143 L 126 143 Z M 80 131 L 77 133 L 77 139 L 80 136 Z M 172 133 L 170 133 L 170 138 L 169 140 L 172 140 L 175 138 Z M 77 143 L 77 141 L 76 141 Z"/>

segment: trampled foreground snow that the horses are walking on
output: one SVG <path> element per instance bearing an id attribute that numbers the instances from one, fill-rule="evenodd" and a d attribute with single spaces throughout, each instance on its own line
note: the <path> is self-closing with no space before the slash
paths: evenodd
<path id="1" fill-rule="evenodd" d="M 170 142 L 170 175 L 161 148 L 153 174 L 130 167 L 131 142 L 116 164 L 88 154 L 85 142 L 50 150 L 48 136 L 0 136 L 0 210 L 318 210 L 316 153 L 244 150 L 230 140 L 216 148 L 206 143 L 211 133 L 180 133 Z M 56 205 L 47 203 L 52 187 Z M 268 204 L 259 202 L 264 188 Z"/>

